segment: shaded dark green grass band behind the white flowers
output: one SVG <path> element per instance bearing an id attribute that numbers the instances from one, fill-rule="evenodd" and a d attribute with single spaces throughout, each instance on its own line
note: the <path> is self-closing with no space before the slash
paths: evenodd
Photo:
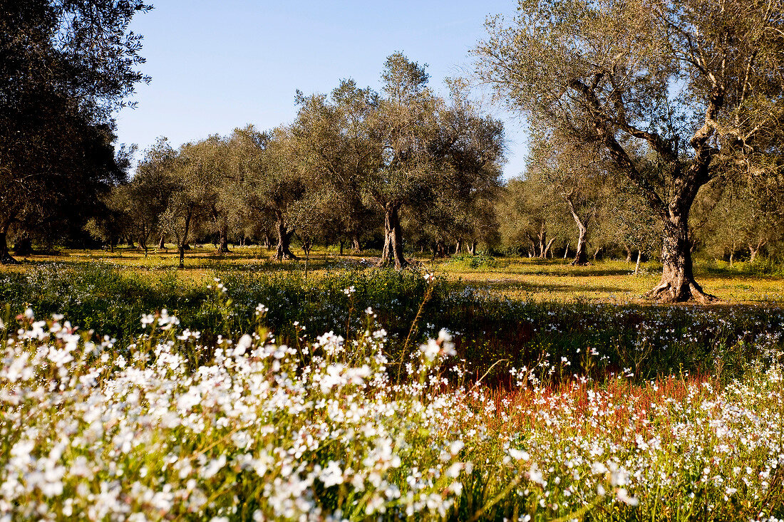
<path id="1" fill-rule="evenodd" d="M 492 263 L 487 256 L 453 259 L 450 263 Z M 505 382 L 510 367 L 556 366 L 562 357 L 570 367 L 554 371 L 554 378 L 587 374 L 603 379 L 628 368 L 637 379 L 652 379 L 681 371 L 710 372 L 717 364 L 735 368 L 720 357 L 736 343 L 782 349 L 784 310 L 775 305 L 703 309 L 521 302 L 477 288 L 456 288 L 440 278 L 425 299 L 428 284 L 421 274 L 394 270 L 338 270 L 307 280 L 301 273 L 217 275 L 212 288 L 192 288 L 178 283 L 174 272 L 150 281 L 100 263 L 78 268 L 49 264 L 27 275 L 0 276 L 0 303 L 10 303 L 13 314 L 26 306 L 39 317 L 67 314 L 82 329 L 118 339 L 139 334 L 142 314 L 163 309 L 205 339 L 252 332 L 261 304 L 270 310 L 272 332 L 285 343 L 296 342 L 303 327 L 306 333 L 346 336 L 363 328 L 362 317 L 370 307 L 389 334 L 387 350 L 394 361 L 421 306 L 412 343 L 447 328 L 470 372 L 478 377 L 492 368 L 486 379 L 494 382 Z M 347 288 L 354 290 L 347 295 Z M 598 355 L 586 369 L 583 359 L 589 349 Z"/>

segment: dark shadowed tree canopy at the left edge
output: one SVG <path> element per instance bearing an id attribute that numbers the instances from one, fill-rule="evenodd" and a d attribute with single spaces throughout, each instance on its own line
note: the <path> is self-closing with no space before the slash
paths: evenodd
<path id="1" fill-rule="evenodd" d="M 137 82 L 140 0 L 0 2 L 0 261 L 9 228 L 61 223 L 124 177 L 111 112 Z M 127 165 L 126 165 L 127 166 Z M 75 219 L 74 219 L 75 220 Z"/>

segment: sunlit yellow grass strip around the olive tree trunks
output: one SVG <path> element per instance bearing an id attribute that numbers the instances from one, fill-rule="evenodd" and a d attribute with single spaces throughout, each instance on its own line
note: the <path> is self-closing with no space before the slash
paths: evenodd
<path id="1" fill-rule="evenodd" d="M 31 256 L 17 266 L 5 270 L 26 271 L 41 263 L 82 266 L 85 263 L 107 263 L 125 273 L 154 280 L 162 272 L 173 272 L 177 281 L 199 287 L 216 274 L 227 271 L 304 274 L 304 261 L 277 262 L 270 259 L 272 251 L 260 247 L 234 247 L 232 252 L 216 256 L 212 248 L 194 248 L 187 252 L 185 270 L 176 270 L 176 249 L 152 252 L 144 257 L 136 249 L 118 248 L 114 254 L 105 251 L 63 250 L 57 256 Z M 309 276 L 321 277 L 335 270 L 369 266 L 378 252 L 362 256 L 337 256 L 323 248 L 314 248 L 308 261 Z M 661 266 L 642 263 L 641 273 L 633 274 L 634 263 L 602 260 L 590 266 L 569 266 L 564 259 L 492 258 L 488 256 L 456 256 L 430 262 L 418 259 L 428 270 L 443 275 L 456 287 L 474 287 L 499 298 L 516 301 L 569 302 L 589 299 L 602 303 L 646 303 L 641 296 L 659 282 Z M 770 275 L 770 274 L 774 275 Z M 695 263 L 695 277 L 707 292 L 725 303 L 771 303 L 784 300 L 784 274 L 779 267 L 757 263 L 700 261 Z"/>

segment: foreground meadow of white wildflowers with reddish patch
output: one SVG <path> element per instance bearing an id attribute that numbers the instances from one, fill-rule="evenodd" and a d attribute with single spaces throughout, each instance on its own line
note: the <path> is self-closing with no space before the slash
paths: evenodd
<path id="1" fill-rule="evenodd" d="M 426 277 L 423 303 L 437 286 Z M 231 316 L 230 289 L 210 286 Z M 353 305 L 359 292 L 340 295 Z M 257 303 L 248 332 L 214 337 L 158 310 L 123 342 L 58 314 L 6 319 L 0 517 L 784 517 L 775 314 L 751 344 L 723 330 L 712 372 L 640 379 L 615 368 L 617 350 L 569 346 L 490 368 L 492 385 L 431 324 L 433 339 L 395 342 L 368 307 L 339 333 L 296 322 L 285 344 L 268 314 Z M 657 324 L 643 345 L 671 342 Z"/>

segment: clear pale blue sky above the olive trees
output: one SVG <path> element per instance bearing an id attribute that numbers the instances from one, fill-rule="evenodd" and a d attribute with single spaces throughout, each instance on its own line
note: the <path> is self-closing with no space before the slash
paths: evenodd
<path id="1" fill-rule="evenodd" d="M 117 115 L 118 142 L 140 150 L 158 136 L 178 146 L 248 123 L 270 129 L 296 114 L 296 89 L 329 92 L 341 78 L 379 89 L 384 59 L 402 51 L 427 63 L 430 85 L 472 71 L 468 52 L 485 38 L 489 14 L 514 14 L 514 0 L 271 2 L 152 0 L 136 16 L 149 85 L 138 85 L 134 110 Z M 481 92 L 477 90 L 477 96 Z M 508 139 L 506 177 L 519 174 L 524 124 L 493 106 Z M 137 154 L 137 158 L 140 154 Z"/>

